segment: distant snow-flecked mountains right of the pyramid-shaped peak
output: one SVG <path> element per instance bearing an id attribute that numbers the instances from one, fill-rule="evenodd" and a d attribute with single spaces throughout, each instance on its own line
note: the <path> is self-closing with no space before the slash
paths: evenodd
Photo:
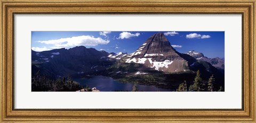
<path id="1" fill-rule="evenodd" d="M 190 56 L 192 56 L 193 58 L 199 60 L 199 61 L 206 61 L 206 62 L 209 62 L 211 63 L 215 68 L 217 69 L 221 69 L 221 70 L 224 70 L 225 69 L 225 61 L 224 59 L 220 59 L 220 58 L 207 58 L 206 56 L 204 56 L 203 53 L 199 53 L 199 52 L 196 52 L 196 51 L 189 51 L 185 54 L 188 54 Z"/>

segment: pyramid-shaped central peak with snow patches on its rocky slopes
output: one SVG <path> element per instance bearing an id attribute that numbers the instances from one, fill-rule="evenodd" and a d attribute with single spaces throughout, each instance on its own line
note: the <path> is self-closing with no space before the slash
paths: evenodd
<path id="1" fill-rule="evenodd" d="M 137 51 L 125 56 L 120 62 L 139 63 L 163 72 L 181 72 L 188 71 L 189 65 L 196 60 L 175 51 L 164 34 L 158 33 L 150 36 Z"/>

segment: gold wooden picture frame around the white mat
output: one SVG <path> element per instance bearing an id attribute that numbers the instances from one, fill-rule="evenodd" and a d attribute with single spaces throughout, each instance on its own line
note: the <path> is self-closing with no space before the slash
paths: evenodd
<path id="1" fill-rule="evenodd" d="M 255 0 L 1 0 L 1 122 L 256 122 Z M 13 93 L 14 13 L 242 13 L 242 110 L 17 110 Z"/>

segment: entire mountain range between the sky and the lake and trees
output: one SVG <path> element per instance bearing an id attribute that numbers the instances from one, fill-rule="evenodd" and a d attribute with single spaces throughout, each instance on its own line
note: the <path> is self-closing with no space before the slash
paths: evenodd
<path id="1" fill-rule="evenodd" d="M 108 53 L 77 46 L 51 51 L 31 51 L 32 76 L 38 71 L 52 77 L 110 76 L 123 82 L 160 87 L 177 87 L 184 80 L 193 83 L 199 70 L 205 80 L 214 75 L 224 87 L 224 60 L 210 59 L 196 51 L 179 53 L 162 33 L 150 36 L 131 53 Z M 142 76 L 143 75 L 143 76 Z"/>

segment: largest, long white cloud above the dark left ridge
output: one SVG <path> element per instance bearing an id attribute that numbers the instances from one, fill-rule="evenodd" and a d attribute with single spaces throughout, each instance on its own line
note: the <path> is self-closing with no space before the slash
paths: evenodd
<path id="1" fill-rule="evenodd" d="M 94 38 L 93 36 L 77 36 L 71 38 L 60 38 L 54 40 L 39 40 L 39 43 L 53 45 L 52 47 L 70 47 L 70 46 L 96 46 L 98 44 L 108 44 L 109 40 L 102 39 L 100 37 Z"/>

